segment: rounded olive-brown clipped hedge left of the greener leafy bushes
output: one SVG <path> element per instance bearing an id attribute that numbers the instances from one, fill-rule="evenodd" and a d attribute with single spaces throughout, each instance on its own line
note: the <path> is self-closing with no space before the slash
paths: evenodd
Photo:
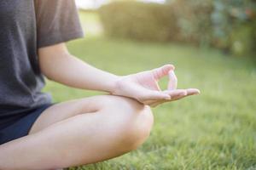
<path id="1" fill-rule="evenodd" d="M 168 41 L 177 32 L 176 18 L 166 5 L 115 2 L 100 9 L 106 33 L 143 41 Z"/>

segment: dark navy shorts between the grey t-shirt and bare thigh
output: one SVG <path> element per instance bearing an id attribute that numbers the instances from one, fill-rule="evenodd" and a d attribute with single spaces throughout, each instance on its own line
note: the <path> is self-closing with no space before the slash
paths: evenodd
<path id="1" fill-rule="evenodd" d="M 42 105 L 8 127 L 0 129 L 0 144 L 26 136 L 38 116 L 51 105 L 54 104 Z"/>

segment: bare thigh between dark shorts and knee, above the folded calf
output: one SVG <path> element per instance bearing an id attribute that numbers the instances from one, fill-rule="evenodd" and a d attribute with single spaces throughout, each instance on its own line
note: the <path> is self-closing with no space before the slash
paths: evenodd
<path id="1" fill-rule="evenodd" d="M 73 99 L 52 105 L 38 116 L 29 134 L 37 133 L 55 122 L 61 122 L 72 116 L 99 111 L 108 97 L 108 95 L 99 95 L 83 99 Z"/>

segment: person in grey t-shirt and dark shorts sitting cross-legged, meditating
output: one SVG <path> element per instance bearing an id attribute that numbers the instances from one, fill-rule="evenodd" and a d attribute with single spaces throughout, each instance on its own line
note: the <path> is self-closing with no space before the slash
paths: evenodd
<path id="1" fill-rule="evenodd" d="M 173 65 L 120 77 L 68 53 L 83 37 L 71 0 L 0 2 L 0 169 L 56 169 L 135 150 L 153 125 L 149 106 L 199 90 L 176 89 Z M 51 103 L 44 76 L 109 95 Z M 157 81 L 169 75 L 168 90 Z M 148 106 L 149 105 L 149 106 Z"/>

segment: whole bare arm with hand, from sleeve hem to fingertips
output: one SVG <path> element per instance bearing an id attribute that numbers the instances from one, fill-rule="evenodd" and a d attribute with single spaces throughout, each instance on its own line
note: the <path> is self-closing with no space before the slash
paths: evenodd
<path id="1" fill-rule="evenodd" d="M 119 77 L 73 57 L 68 53 L 64 43 L 39 48 L 38 56 L 41 71 L 50 80 L 73 88 L 105 91 L 137 99 L 144 105 L 156 106 L 200 93 L 195 88 L 176 89 L 177 77 L 173 65 Z M 169 75 L 169 84 L 168 88 L 162 91 L 158 81 L 166 75 Z"/>

